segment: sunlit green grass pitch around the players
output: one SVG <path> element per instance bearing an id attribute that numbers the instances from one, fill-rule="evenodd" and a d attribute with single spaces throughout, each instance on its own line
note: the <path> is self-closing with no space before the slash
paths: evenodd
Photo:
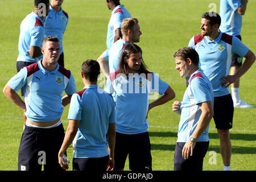
<path id="1" fill-rule="evenodd" d="M 1 0 L 0 13 L 0 90 L 16 73 L 18 56 L 19 26 L 22 19 L 33 10 L 32 1 Z M 174 52 L 187 46 L 193 35 L 200 33 L 201 14 L 209 11 L 211 0 L 122 0 L 134 18 L 139 19 L 142 36 L 138 45 L 143 50 L 143 59 L 150 71 L 159 73 L 176 93 L 175 100 L 181 101 L 185 91 L 185 81 L 175 70 Z M 256 53 L 256 1 L 251 0 L 243 16 L 242 40 Z M 86 59 L 97 59 L 106 49 L 106 31 L 110 10 L 105 1 L 65 0 L 63 9 L 69 14 L 67 31 L 64 34 L 65 67 L 71 69 L 77 90 L 83 88 L 80 78 L 81 64 Z M 249 104 L 256 105 L 255 65 L 241 77 L 240 96 Z M 0 170 L 17 170 L 18 148 L 22 135 L 22 111 L 0 93 Z M 179 115 L 171 111 L 172 101 L 155 107 L 148 115 L 151 140 L 152 168 L 154 170 L 173 170 L 174 150 L 177 139 Z M 68 126 L 68 108 L 63 113 L 64 129 Z M 233 129 L 230 137 L 233 146 L 232 170 L 256 170 L 256 125 L 255 107 L 235 109 Z M 222 170 L 219 139 L 214 122 L 210 123 L 210 145 L 204 159 L 204 170 Z M 216 164 L 212 152 L 216 153 Z M 68 158 L 72 159 L 72 146 L 68 148 Z M 72 165 L 70 167 L 72 169 Z M 125 169 L 128 170 L 128 162 Z"/>

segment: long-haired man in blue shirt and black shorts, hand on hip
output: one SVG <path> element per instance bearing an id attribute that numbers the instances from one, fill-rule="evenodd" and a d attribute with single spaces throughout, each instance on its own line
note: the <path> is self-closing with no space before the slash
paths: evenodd
<path id="1" fill-rule="evenodd" d="M 115 170 L 123 170 L 129 154 L 131 170 L 152 170 L 147 113 L 175 97 L 174 90 L 154 73 L 146 70 L 142 50 L 128 44 L 122 50 L 118 70 L 110 73 L 105 90 L 115 93 L 117 121 Z M 163 95 L 150 101 L 152 92 Z"/>

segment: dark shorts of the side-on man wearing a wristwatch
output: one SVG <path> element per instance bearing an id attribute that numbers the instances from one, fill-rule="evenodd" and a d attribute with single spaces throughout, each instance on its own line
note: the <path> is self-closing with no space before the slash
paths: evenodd
<path id="1" fill-rule="evenodd" d="M 188 159 L 182 156 L 185 142 L 177 142 L 174 153 L 174 171 L 203 171 L 204 156 L 207 154 L 209 142 L 196 142 L 193 155 Z M 190 154 L 189 154 L 190 155 Z"/>

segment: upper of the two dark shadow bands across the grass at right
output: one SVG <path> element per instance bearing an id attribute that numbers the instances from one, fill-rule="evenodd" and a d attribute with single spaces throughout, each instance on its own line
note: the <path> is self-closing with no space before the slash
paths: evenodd
<path id="1" fill-rule="evenodd" d="M 175 132 L 149 132 L 150 137 L 176 137 L 177 133 Z M 217 133 L 209 133 L 210 139 L 218 139 Z M 231 140 L 247 140 L 247 141 L 256 141 L 256 134 L 241 134 L 241 133 L 230 133 Z"/>

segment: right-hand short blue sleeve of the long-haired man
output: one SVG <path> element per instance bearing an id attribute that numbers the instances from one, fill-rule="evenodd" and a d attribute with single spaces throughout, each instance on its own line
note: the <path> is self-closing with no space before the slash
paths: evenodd
<path id="1" fill-rule="evenodd" d="M 160 95 L 163 95 L 168 88 L 168 84 L 161 80 L 158 75 L 152 73 L 152 83 L 151 83 L 151 92 L 157 92 Z"/>

